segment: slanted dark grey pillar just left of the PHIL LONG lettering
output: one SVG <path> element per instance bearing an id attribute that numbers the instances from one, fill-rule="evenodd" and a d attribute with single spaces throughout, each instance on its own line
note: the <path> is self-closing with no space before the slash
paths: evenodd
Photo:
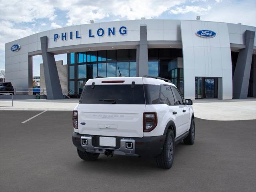
<path id="1" fill-rule="evenodd" d="M 54 54 L 47 52 L 48 38 L 47 36 L 43 36 L 40 38 L 40 40 L 47 99 L 64 99 L 60 86 L 60 79 L 58 76 Z"/>

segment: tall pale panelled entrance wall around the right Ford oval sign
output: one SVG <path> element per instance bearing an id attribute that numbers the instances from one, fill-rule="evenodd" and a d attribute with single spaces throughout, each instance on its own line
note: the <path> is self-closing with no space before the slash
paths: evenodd
<path id="1" fill-rule="evenodd" d="M 222 77 L 222 98 L 232 99 L 232 63 L 226 23 L 181 21 L 184 65 L 184 97 L 195 98 L 195 77 Z M 214 38 L 195 32 L 211 29 Z M 221 96 L 220 96 L 221 97 Z"/>

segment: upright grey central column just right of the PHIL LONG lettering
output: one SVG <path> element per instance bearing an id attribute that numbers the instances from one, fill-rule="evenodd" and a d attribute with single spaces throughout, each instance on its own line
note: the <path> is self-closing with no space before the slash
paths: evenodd
<path id="1" fill-rule="evenodd" d="M 136 76 L 148 75 L 148 38 L 147 26 L 140 26 L 140 44 L 137 46 L 137 70 Z"/>

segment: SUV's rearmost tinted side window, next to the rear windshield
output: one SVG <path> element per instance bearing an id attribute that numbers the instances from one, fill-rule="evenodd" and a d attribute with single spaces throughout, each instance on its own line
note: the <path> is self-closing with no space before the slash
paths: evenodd
<path id="1" fill-rule="evenodd" d="M 144 84 L 146 104 L 158 104 L 160 86 Z"/>

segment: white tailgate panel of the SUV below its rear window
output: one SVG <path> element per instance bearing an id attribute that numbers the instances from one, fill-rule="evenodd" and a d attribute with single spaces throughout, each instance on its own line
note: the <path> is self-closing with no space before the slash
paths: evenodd
<path id="1" fill-rule="evenodd" d="M 79 104 L 78 132 L 101 136 L 143 137 L 144 111 L 144 104 Z"/>

